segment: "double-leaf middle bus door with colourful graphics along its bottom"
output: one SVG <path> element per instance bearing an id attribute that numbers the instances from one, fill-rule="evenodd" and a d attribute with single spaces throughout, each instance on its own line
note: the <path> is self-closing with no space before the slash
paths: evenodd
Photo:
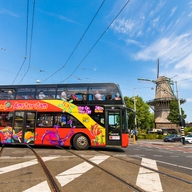
<path id="1" fill-rule="evenodd" d="M 15 111 L 13 116 L 13 142 L 33 144 L 35 141 L 36 111 Z"/>

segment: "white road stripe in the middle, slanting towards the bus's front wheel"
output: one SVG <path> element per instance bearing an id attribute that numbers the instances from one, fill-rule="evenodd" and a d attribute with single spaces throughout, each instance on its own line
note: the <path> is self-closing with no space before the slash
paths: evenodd
<path id="1" fill-rule="evenodd" d="M 101 162 L 105 161 L 109 156 L 95 156 L 90 159 L 95 164 L 100 164 Z M 68 184 L 69 182 L 73 181 L 77 177 L 81 176 L 83 173 L 89 171 L 93 168 L 93 165 L 83 162 L 67 171 L 64 171 L 56 176 L 58 182 L 63 187 L 64 185 Z"/>

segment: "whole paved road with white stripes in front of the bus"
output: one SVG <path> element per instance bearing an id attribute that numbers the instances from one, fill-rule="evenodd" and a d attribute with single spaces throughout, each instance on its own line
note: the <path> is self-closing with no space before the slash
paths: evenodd
<path id="1" fill-rule="evenodd" d="M 34 149 L 60 191 L 191 191 L 192 145 L 139 140 L 125 149 Z M 0 157 L 0 189 L 53 191 L 32 152 L 16 146 L 6 147 Z"/>

